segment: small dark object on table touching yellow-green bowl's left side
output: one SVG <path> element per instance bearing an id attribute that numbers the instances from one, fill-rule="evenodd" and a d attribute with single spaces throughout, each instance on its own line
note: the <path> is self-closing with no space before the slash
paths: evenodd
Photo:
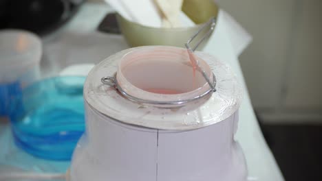
<path id="1" fill-rule="evenodd" d="M 111 34 L 120 34 L 120 28 L 118 27 L 118 21 L 116 20 L 116 12 L 107 14 L 103 21 L 98 25 L 98 31 L 107 32 Z"/>

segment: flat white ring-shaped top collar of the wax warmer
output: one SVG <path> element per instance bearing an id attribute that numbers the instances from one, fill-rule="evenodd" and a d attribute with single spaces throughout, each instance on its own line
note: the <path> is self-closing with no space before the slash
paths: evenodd
<path id="1" fill-rule="evenodd" d="M 175 110 L 142 106 L 142 104 L 125 99 L 114 88 L 100 82 L 101 77 L 114 76 L 118 69 L 118 60 L 126 53 L 149 47 L 165 46 L 125 49 L 96 64 L 96 67 L 89 72 L 84 86 L 85 102 L 98 114 L 105 116 L 106 121 L 114 119 L 142 128 L 183 131 L 219 123 L 238 110 L 242 99 L 242 89 L 235 73 L 228 64 L 201 51 L 196 52 L 197 56 L 201 56 L 217 76 L 217 91 L 202 104 L 188 104 Z"/>

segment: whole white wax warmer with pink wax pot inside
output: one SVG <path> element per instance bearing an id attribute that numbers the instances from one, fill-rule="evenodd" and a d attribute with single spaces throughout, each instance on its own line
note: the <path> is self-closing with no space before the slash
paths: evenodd
<path id="1" fill-rule="evenodd" d="M 246 180 L 233 138 L 241 88 L 226 64 L 195 55 L 215 92 L 186 49 L 137 47 L 97 64 L 85 82 L 86 132 L 69 179 Z"/>

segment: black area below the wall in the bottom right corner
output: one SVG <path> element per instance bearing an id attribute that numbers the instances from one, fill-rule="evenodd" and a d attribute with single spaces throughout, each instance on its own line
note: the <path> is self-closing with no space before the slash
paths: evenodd
<path id="1" fill-rule="evenodd" d="M 286 181 L 322 180 L 322 125 L 263 124 Z"/>

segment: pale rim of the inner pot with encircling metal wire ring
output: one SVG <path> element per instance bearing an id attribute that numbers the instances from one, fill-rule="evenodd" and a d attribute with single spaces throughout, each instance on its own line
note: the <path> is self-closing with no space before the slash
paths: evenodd
<path id="1" fill-rule="evenodd" d="M 115 86 L 116 90 L 118 90 L 122 95 L 124 95 L 131 101 L 162 107 L 182 106 L 184 104 L 190 103 L 191 101 L 197 101 L 198 99 L 213 93 L 213 90 L 211 90 L 211 87 L 208 86 L 206 82 L 200 84 L 200 86 L 198 86 L 197 88 L 184 91 L 183 93 L 152 93 L 132 84 L 131 81 L 127 79 L 128 77 L 123 74 L 125 67 L 128 67 L 133 62 L 142 59 L 147 59 L 147 62 L 150 62 L 150 58 L 154 57 L 156 59 L 161 57 L 162 59 L 164 58 L 164 60 L 171 60 L 170 62 L 175 62 L 178 60 L 179 64 L 180 62 L 182 62 L 182 60 L 184 60 L 184 62 L 189 62 L 189 60 L 186 60 L 186 57 L 189 57 L 186 49 L 178 47 L 147 47 L 144 49 L 133 49 L 132 51 L 125 53 L 118 61 L 118 70 L 116 76 L 103 77 L 102 82 L 110 86 Z M 211 72 L 211 68 L 204 60 L 202 60 L 202 58 L 197 57 L 197 59 L 200 64 L 202 64 L 202 67 L 204 67 L 204 69 L 208 71 L 207 73 L 209 80 L 213 81 L 213 85 L 215 86 L 215 75 Z M 180 64 L 180 66 L 186 67 L 186 64 Z M 199 70 L 196 71 L 200 73 Z"/>

